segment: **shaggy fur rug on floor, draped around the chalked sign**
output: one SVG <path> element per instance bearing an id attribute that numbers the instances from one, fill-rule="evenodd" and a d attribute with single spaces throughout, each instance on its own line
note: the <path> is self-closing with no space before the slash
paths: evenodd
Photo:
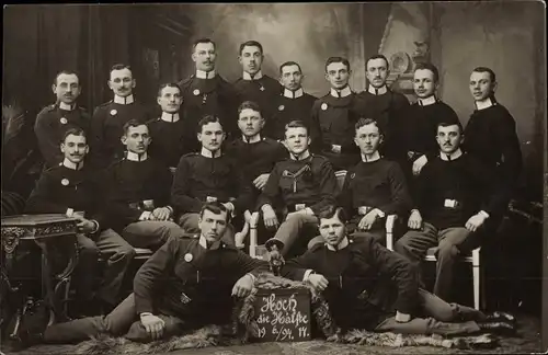
<path id="1" fill-rule="evenodd" d="M 124 337 L 101 336 L 78 344 L 76 346 L 76 354 L 159 354 L 175 350 L 246 344 L 258 332 L 253 308 L 256 288 L 308 288 L 311 295 L 313 318 L 328 342 L 366 346 L 436 346 L 446 348 L 492 348 L 498 345 L 498 340 L 490 334 L 449 339 L 438 335 L 402 335 L 389 332 L 368 332 L 365 330 L 351 330 L 343 334 L 332 322 L 326 300 L 311 287 L 302 283 L 273 276 L 272 274 L 263 274 L 258 277 L 253 293 L 235 307 L 231 324 L 208 325 L 191 334 L 173 336 L 169 340 L 146 344 L 132 342 Z"/>

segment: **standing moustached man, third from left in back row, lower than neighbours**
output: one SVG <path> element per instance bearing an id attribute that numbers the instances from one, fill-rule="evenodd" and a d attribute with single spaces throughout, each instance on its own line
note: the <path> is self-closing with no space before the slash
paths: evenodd
<path id="1" fill-rule="evenodd" d="M 162 114 L 148 123 L 152 138 L 149 152 L 152 158 L 174 168 L 182 156 L 191 152 L 185 139 L 184 118 L 181 116 L 181 89 L 176 83 L 162 84 L 158 90 L 157 100 Z"/>

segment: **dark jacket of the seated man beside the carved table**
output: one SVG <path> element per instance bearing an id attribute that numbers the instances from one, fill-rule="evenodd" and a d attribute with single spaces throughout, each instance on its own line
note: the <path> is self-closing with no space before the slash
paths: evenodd
<path id="1" fill-rule="evenodd" d="M 73 170 L 58 164 L 42 173 L 26 202 L 26 211 L 65 214 L 71 208 L 85 213 L 87 219 L 96 220 L 99 230 L 107 229 L 109 218 L 104 211 L 100 183 L 89 165 Z"/>

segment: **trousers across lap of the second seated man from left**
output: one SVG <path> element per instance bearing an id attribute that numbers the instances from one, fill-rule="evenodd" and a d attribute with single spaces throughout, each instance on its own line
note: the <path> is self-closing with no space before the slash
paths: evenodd
<path id="1" fill-rule="evenodd" d="M 122 231 L 124 239 L 135 248 L 158 250 L 170 238 L 184 237 L 184 230 L 169 220 L 141 220 L 129 224 Z"/>

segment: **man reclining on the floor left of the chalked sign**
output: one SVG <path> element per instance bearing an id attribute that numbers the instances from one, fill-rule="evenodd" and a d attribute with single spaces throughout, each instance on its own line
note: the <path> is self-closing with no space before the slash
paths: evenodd
<path id="1" fill-rule="evenodd" d="M 224 243 L 229 211 L 219 203 L 199 211 L 199 237 L 170 239 L 137 272 L 134 293 L 105 317 L 46 328 L 35 341 L 67 343 L 100 334 L 149 342 L 230 321 L 233 299 L 253 289 L 266 262 Z M 35 334 L 39 335 L 39 334 Z"/>

